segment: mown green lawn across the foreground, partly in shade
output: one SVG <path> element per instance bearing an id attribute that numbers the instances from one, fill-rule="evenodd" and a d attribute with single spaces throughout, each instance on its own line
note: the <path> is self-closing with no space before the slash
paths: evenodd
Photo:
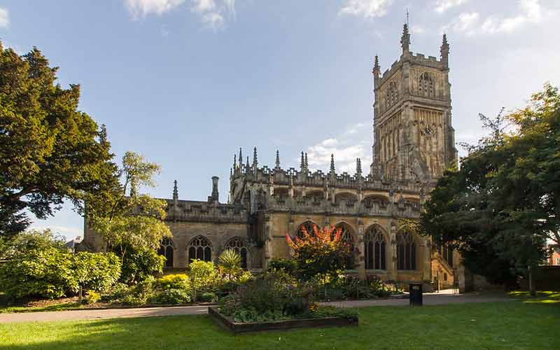
<path id="1" fill-rule="evenodd" d="M 0 324 L 0 349 L 559 349 L 560 304 L 369 307 L 360 325 L 232 335 L 206 315 Z"/>

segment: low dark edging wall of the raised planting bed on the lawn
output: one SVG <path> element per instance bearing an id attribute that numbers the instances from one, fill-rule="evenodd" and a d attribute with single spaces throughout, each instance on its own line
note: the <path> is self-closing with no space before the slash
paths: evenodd
<path id="1" fill-rule="evenodd" d="M 208 314 L 214 323 L 226 330 L 235 333 L 260 332 L 263 330 L 288 330 L 293 328 L 323 328 L 339 327 L 343 325 L 358 325 L 358 316 L 351 317 L 327 317 L 327 318 L 303 318 L 286 321 L 266 321 L 253 323 L 237 323 L 228 316 L 220 314 L 218 307 L 209 307 Z"/>

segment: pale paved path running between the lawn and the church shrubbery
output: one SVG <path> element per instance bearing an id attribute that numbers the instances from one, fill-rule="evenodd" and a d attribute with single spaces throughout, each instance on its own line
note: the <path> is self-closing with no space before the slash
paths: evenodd
<path id="1" fill-rule="evenodd" d="M 441 305 L 463 302 L 505 302 L 508 301 L 503 294 L 489 295 L 451 295 L 426 293 L 423 295 L 423 304 Z M 385 300 L 349 300 L 342 302 L 324 302 L 337 307 L 370 307 L 370 306 L 406 306 L 408 299 Z M 193 307 L 141 307 L 136 309 L 97 309 L 97 310 L 71 310 L 71 311 L 44 311 L 25 312 L 18 314 L 0 314 L 0 323 L 29 322 L 29 321 L 75 321 L 95 320 L 103 318 L 130 318 L 172 315 L 207 314 L 207 306 Z"/>

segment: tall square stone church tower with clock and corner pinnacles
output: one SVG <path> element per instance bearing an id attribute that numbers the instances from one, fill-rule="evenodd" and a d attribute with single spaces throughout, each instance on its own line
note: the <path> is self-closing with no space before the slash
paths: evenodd
<path id="1" fill-rule="evenodd" d="M 449 44 L 440 59 L 413 54 L 404 25 L 402 55 L 381 75 L 373 66 L 373 162 L 371 175 L 387 181 L 431 182 L 457 161 L 451 127 Z"/>

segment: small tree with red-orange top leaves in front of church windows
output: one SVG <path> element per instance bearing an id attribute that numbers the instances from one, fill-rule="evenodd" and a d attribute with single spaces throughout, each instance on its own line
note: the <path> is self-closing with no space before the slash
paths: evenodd
<path id="1" fill-rule="evenodd" d="M 324 281 L 335 278 L 346 267 L 350 246 L 342 238 L 342 229 L 335 227 L 319 230 L 313 226 L 313 232 L 302 227 L 303 237 L 291 239 L 286 235 L 288 245 L 293 248 L 293 258 L 297 263 L 297 272 L 303 279 L 321 276 Z"/>

